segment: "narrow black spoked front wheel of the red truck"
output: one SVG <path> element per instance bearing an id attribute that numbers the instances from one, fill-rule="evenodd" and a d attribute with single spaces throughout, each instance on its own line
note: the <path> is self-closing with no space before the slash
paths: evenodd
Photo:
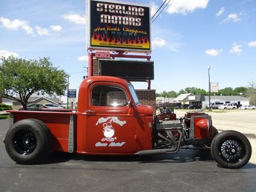
<path id="1" fill-rule="evenodd" d="M 248 138 L 237 131 L 222 131 L 211 142 L 211 155 L 224 168 L 238 169 L 245 166 L 251 154 Z"/>

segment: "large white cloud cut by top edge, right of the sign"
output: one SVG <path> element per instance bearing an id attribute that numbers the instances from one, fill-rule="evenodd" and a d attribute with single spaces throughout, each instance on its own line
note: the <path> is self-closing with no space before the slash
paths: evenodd
<path id="1" fill-rule="evenodd" d="M 209 0 L 172 0 L 168 4 L 167 12 L 170 14 L 192 13 L 198 8 L 206 8 Z"/>

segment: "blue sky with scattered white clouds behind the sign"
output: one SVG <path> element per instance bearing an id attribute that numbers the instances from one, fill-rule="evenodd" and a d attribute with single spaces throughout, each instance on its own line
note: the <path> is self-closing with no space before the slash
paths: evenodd
<path id="1" fill-rule="evenodd" d="M 164 1 L 122 2 L 150 5 L 152 17 Z M 208 66 L 210 81 L 218 82 L 220 89 L 248 87 L 256 81 L 256 0 L 166 4 L 151 24 L 152 89 L 208 90 Z M 70 74 L 69 88 L 78 89 L 88 67 L 86 8 L 85 0 L 1 0 L 0 57 L 49 57 Z M 148 84 L 134 87 L 146 89 Z"/>

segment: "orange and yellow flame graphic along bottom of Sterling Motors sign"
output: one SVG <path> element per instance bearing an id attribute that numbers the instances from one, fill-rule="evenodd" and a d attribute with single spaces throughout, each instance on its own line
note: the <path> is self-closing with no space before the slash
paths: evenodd
<path id="1" fill-rule="evenodd" d="M 94 33 L 92 46 L 122 46 L 127 48 L 149 49 L 149 39 L 146 37 L 108 37 L 105 34 Z"/>

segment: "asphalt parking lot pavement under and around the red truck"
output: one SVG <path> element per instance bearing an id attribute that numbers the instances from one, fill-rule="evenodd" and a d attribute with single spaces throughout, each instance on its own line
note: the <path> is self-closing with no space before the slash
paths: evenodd
<path id="1" fill-rule="evenodd" d="M 184 111 L 176 114 L 183 116 Z M 255 112 L 211 115 L 219 131 L 234 128 L 255 141 Z M 1 141 L 7 129 L 8 120 L 0 120 Z M 14 163 L 1 142 L 0 191 L 255 191 L 254 156 L 235 170 L 220 168 L 210 152 L 199 150 L 149 156 L 52 153 L 25 166 Z"/>

